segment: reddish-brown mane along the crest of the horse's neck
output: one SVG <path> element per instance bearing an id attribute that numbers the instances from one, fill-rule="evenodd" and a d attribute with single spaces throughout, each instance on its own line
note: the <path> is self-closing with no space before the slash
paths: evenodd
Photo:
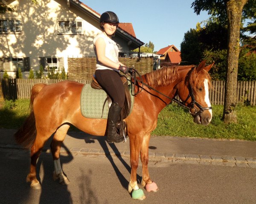
<path id="1" fill-rule="evenodd" d="M 167 86 L 178 77 L 177 66 L 162 67 L 156 71 L 145 74 L 145 79 L 150 86 Z"/>

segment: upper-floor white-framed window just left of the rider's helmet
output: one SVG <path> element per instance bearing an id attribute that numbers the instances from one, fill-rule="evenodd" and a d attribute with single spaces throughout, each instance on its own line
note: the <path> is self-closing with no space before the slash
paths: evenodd
<path id="1" fill-rule="evenodd" d="M 58 20 L 58 34 L 82 35 L 81 20 Z"/>

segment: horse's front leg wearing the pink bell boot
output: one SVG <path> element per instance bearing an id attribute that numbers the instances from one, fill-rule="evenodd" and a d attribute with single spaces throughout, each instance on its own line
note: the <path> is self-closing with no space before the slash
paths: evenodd
<path id="1" fill-rule="evenodd" d="M 142 181 L 141 184 L 148 192 L 158 191 L 157 184 L 151 181 L 148 173 L 148 144 L 150 140 L 150 134 L 147 134 L 143 138 L 140 150 L 140 159 L 142 163 Z"/>

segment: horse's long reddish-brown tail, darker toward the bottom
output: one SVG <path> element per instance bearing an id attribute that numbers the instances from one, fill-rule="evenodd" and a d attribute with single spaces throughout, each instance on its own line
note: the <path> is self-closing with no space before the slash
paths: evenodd
<path id="1" fill-rule="evenodd" d="M 35 114 L 33 103 L 35 97 L 39 94 L 42 88 L 44 88 L 46 84 L 36 84 L 31 89 L 30 96 L 30 114 L 24 124 L 20 127 L 20 129 L 14 134 L 15 140 L 18 144 L 22 145 L 26 149 L 30 149 L 31 146 L 35 142 L 36 137 L 36 127 L 35 127 Z"/>

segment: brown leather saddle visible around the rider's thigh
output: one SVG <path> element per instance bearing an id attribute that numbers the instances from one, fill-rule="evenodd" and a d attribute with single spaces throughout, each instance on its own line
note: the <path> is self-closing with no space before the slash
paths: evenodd
<path id="1" fill-rule="evenodd" d="M 124 106 L 122 108 L 122 111 L 121 111 L 122 119 L 125 119 L 131 111 L 132 103 L 131 103 L 131 95 L 130 95 L 130 91 L 129 91 L 129 88 L 128 88 L 127 79 L 125 77 L 123 77 L 122 75 L 120 75 L 120 77 L 121 77 L 121 80 L 122 80 L 124 88 L 125 88 L 125 104 L 124 104 Z M 102 89 L 102 87 L 97 82 L 94 74 L 92 76 L 92 79 L 93 79 L 93 81 L 91 83 L 91 88 Z M 112 100 L 108 95 L 107 95 L 107 98 L 106 98 L 105 102 L 106 101 L 108 101 L 108 108 L 110 108 L 110 106 L 112 104 Z M 105 103 L 104 103 L 103 107 L 104 106 L 105 106 Z"/>

